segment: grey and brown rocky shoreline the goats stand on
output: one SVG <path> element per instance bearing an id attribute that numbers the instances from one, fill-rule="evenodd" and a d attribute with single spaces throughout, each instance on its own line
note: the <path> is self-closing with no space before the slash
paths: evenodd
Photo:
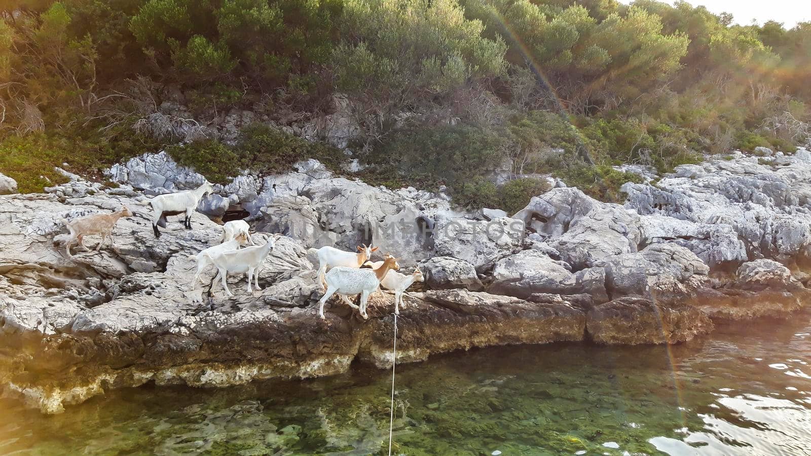
<path id="1" fill-rule="evenodd" d="M 307 248 L 321 245 L 373 243 L 426 273 L 405 296 L 398 363 L 478 346 L 678 343 L 714 322 L 788 316 L 811 298 L 811 153 L 728 158 L 626 184 L 624 205 L 559 183 L 513 217 L 462 213 L 441 194 L 371 187 L 315 161 L 240 176 L 198 209 L 244 211 L 258 231 L 285 237 L 260 274 L 264 290 L 247 295 L 234 277 L 234 299 L 191 289 L 189 256 L 219 241 L 217 222 L 195 213 L 192 230 L 170 220 L 153 237 L 144 193 L 201 178 L 165 154 L 112 170 L 119 187 L 71 176 L 46 194 L 0 196 L 2 391 L 58 413 L 147 382 L 212 387 L 331 375 L 356 359 L 390 366 L 392 295 L 370 299 L 369 320 L 337 299 L 317 318 Z M 111 245 L 65 256 L 58 217 L 122 205 L 134 216 Z"/>

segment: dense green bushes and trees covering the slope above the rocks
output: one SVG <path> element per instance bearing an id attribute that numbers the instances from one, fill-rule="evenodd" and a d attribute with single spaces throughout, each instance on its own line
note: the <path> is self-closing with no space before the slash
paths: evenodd
<path id="1" fill-rule="evenodd" d="M 809 68 L 811 23 L 740 26 L 686 2 L 0 2 L 0 171 L 36 189 L 62 161 L 97 173 L 157 150 L 131 127 L 176 102 L 204 123 L 237 108 L 290 124 L 342 93 L 372 183 L 446 184 L 461 205 L 512 210 L 537 188 L 492 186 L 509 161 L 615 200 L 635 179 L 620 162 L 667 172 L 795 150 L 811 138 Z M 170 151 L 218 182 L 345 159 L 259 126 Z"/>

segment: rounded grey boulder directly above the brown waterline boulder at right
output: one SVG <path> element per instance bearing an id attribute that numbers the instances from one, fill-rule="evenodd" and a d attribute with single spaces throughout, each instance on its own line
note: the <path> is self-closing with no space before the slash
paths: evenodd
<path id="1" fill-rule="evenodd" d="M 693 295 L 710 269 L 686 248 L 659 243 L 607 261 L 605 272 L 611 296 L 640 295 L 673 301 Z"/>

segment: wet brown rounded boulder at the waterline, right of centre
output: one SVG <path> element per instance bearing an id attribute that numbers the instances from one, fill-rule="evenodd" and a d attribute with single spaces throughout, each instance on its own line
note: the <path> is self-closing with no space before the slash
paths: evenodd
<path id="1" fill-rule="evenodd" d="M 603 344 L 689 342 L 712 329 L 710 317 L 697 308 L 634 296 L 598 304 L 586 312 L 586 331 L 594 342 Z"/>

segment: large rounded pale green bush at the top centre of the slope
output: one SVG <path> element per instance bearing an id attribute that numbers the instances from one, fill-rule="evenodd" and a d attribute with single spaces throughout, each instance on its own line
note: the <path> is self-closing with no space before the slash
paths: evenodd
<path id="1" fill-rule="evenodd" d="M 345 0 L 333 54 L 337 88 L 388 113 L 504 74 L 504 42 L 482 36 L 457 0 Z"/>

